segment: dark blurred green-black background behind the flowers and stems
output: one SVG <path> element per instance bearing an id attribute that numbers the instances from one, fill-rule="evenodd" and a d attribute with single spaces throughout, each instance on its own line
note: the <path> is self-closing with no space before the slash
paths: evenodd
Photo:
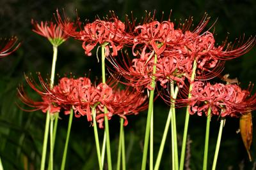
<path id="1" fill-rule="evenodd" d="M 47 39 L 31 31 L 31 18 L 35 20 L 54 20 L 53 14 L 56 8 L 65 9 L 70 18 L 76 18 L 76 10 L 82 20 L 88 18 L 91 21 L 96 15 L 104 17 L 109 10 L 115 11 L 120 19 L 125 14 L 133 11 L 134 17 L 141 18 L 145 10 L 156 10 L 156 16 L 161 20 L 162 11 L 167 19 L 172 10 L 172 20 L 185 20 L 194 17 L 196 25 L 205 11 L 211 16 L 211 24 L 216 20 L 214 30 L 218 43 L 228 36 L 229 41 L 236 38 L 255 35 L 256 28 L 256 1 L 136 1 L 136 0 L 100 0 L 100 1 L 0 1 L 0 36 L 17 36 L 22 41 L 17 52 L 1 59 L 0 62 L 0 157 L 4 169 L 39 169 L 40 154 L 44 134 L 45 115 L 40 111 L 24 112 L 17 107 L 19 103 L 16 88 L 24 82 L 24 73 L 32 74 L 36 78 L 36 72 L 40 71 L 45 78 L 49 78 L 52 62 L 52 47 Z M 253 48 L 238 59 L 230 60 L 225 65 L 223 74 L 229 73 L 231 78 L 237 77 L 241 86 L 246 88 L 248 83 L 256 82 L 256 50 Z M 91 69 L 92 76 L 100 76 L 100 64 L 97 63 L 95 52 L 92 57 L 84 55 L 81 42 L 68 39 L 59 48 L 56 72 L 60 76 L 72 74 L 84 76 Z M 28 88 L 29 90 L 29 88 Z M 29 91 L 31 96 L 36 94 Z M 163 124 L 168 113 L 168 106 L 160 99 L 156 101 L 155 125 L 154 125 L 154 149 L 155 155 L 159 148 L 163 132 Z M 67 117 L 61 114 L 62 120 L 56 139 L 54 153 L 55 169 L 60 168 L 62 148 L 64 146 L 67 131 Z M 202 169 L 205 135 L 205 117 L 193 116 L 189 122 L 189 139 L 191 145 L 186 169 Z M 140 169 L 142 157 L 142 145 L 145 132 L 146 112 L 138 116 L 129 117 L 129 125 L 125 127 L 125 143 L 127 147 L 127 169 Z M 253 118 L 255 122 L 255 118 Z M 177 113 L 177 131 L 179 146 L 182 141 L 184 127 L 184 110 Z M 211 122 L 209 167 L 211 167 L 219 121 L 216 118 Z M 116 152 L 118 143 L 118 118 L 113 118 L 110 123 L 112 162 L 116 164 Z M 217 169 L 255 169 L 256 157 L 255 142 L 252 144 L 253 161 L 249 162 L 244 150 L 239 129 L 239 120 L 228 118 L 221 139 L 220 155 Z M 255 129 L 253 127 L 253 129 Z M 255 134 L 255 133 L 253 133 Z M 102 132 L 100 132 L 102 136 Z M 166 149 L 163 155 L 160 169 L 170 169 L 170 134 L 166 141 Z M 93 130 L 86 118 L 75 118 L 72 125 L 70 145 L 67 156 L 66 169 L 97 169 L 97 157 L 95 152 Z M 155 156 L 156 157 L 156 156 Z"/>

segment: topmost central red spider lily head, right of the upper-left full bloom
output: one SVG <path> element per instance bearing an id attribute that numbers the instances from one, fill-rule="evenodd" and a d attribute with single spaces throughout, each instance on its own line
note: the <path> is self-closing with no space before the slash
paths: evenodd
<path id="1" fill-rule="evenodd" d="M 193 39 L 200 35 L 200 32 L 203 31 L 209 22 L 209 17 L 205 14 L 196 29 L 193 32 L 190 32 L 188 29 L 192 24 L 193 18 L 189 18 L 189 20 L 186 20 L 183 24 L 179 24 L 180 28 L 178 29 L 174 29 L 174 24 L 173 22 L 170 22 L 170 17 L 166 21 L 158 22 L 155 20 L 155 13 L 152 17 L 150 17 L 149 13 L 146 18 L 150 19 L 146 19 L 144 22 L 145 24 L 135 27 L 134 45 L 132 46 L 133 55 L 136 56 L 139 52 L 134 52 L 134 49 L 136 49 L 138 45 L 142 45 L 142 47 L 138 47 L 143 49 L 140 53 L 142 59 L 145 59 L 144 56 L 147 51 L 149 53 L 154 51 L 154 53 L 159 56 L 166 48 L 169 48 L 169 50 L 171 48 L 172 50 L 179 49 L 179 46 L 184 45 L 188 39 Z"/>

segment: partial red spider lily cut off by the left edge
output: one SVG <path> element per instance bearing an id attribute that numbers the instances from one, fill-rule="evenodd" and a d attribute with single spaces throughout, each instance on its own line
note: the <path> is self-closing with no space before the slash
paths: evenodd
<path id="1" fill-rule="evenodd" d="M 6 57 L 7 55 L 15 52 L 20 46 L 20 43 L 17 44 L 17 41 L 17 37 L 9 39 L 0 38 L 0 58 Z"/>

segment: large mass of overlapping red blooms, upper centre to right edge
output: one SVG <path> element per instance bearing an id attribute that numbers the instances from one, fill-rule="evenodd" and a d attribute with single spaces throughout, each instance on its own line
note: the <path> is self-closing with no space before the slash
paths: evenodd
<path id="1" fill-rule="evenodd" d="M 194 31 L 174 29 L 173 22 L 154 20 L 135 27 L 132 54 L 138 58 L 127 64 L 126 59 L 109 59 L 118 74 L 121 74 L 134 86 L 144 85 L 150 88 L 152 76 L 156 76 L 162 87 L 169 81 L 180 85 L 190 80 L 193 62 L 196 60 L 196 79 L 208 80 L 222 71 L 224 60 L 239 57 L 255 45 L 255 38 L 249 38 L 243 45 L 234 46 L 223 43 L 215 46 L 211 32 L 202 32 L 209 22 L 206 16 Z M 188 22 L 188 24 L 191 24 Z M 157 62 L 154 60 L 157 55 Z M 156 74 L 153 74 L 156 66 Z"/>

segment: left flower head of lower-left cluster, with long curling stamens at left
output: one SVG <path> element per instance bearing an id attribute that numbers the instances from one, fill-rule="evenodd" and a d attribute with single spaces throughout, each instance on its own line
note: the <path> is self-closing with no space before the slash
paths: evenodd
<path id="1" fill-rule="evenodd" d="M 51 113 L 55 113 L 63 108 L 65 114 L 68 114 L 70 113 L 70 108 L 73 108 L 76 117 L 86 115 L 87 120 L 92 122 L 92 108 L 96 108 L 96 119 L 100 120 L 100 118 L 104 117 L 104 106 L 106 106 L 108 118 L 110 119 L 113 115 L 112 106 L 108 104 L 113 98 L 113 92 L 106 84 L 100 83 L 97 87 L 94 87 L 89 78 L 61 78 L 58 85 L 51 89 L 40 75 L 39 80 L 41 85 L 37 85 L 34 80 L 30 80 L 26 76 L 26 81 L 31 89 L 35 90 L 43 101 L 33 101 L 26 95 L 23 87 L 18 89 L 20 100 L 26 105 L 35 108 L 34 110 L 42 110 L 44 112 L 49 110 Z"/>

